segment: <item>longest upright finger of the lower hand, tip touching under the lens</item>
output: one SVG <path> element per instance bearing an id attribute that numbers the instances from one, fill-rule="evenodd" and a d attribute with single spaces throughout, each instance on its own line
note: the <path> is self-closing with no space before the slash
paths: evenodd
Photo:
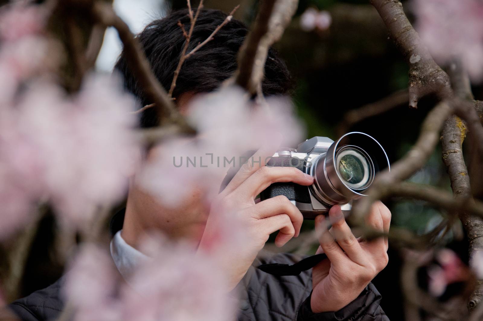
<path id="1" fill-rule="evenodd" d="M 332 224 L 332 235 L 347 256 L 357 264 L 364 265 L 367 258 L 364 250 L 355 238 L 349 225 L 345 221 L 341 206 L 334 205 L 329 210 L 329 219 Z"/>

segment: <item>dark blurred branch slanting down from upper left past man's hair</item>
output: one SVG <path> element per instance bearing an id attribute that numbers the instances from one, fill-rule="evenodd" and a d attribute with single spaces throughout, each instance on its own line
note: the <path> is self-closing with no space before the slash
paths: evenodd
<path id="1" fill-rule="evenodd" d="M 180 124 L 186 131 L 190 131 L 185 120 L 176 110 L 173 102 L 159 84 L 155 75 L 151 72 L 149 61 L 142 50 L 141 44 L 134 38 L 128 25 L 114 13 L 111 5 L 97 1 L 93 5 L 93 15 L 105 26 L 114 27 L 119 33 L 119 38 L 124 44 L 124 52 L 134 75 L 137 76 L 142 88 L 148 97 L 156 104 L 160 123 L 169 121 Z"/>

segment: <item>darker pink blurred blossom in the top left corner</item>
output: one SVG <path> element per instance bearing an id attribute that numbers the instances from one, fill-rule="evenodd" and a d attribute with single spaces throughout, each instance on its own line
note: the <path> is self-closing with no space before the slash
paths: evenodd
<path id="1" fill-rule="evenodd" d="M 0 9 L 0 40 L 12 41 L 40 33 L 44 23 L 45 12 L 39 5 L 27 1 L 6 5 Z"/>

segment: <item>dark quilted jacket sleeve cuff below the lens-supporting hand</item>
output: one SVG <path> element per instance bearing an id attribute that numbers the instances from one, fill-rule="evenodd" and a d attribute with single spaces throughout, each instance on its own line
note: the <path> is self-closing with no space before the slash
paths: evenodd
<path id="1" fill-rule="evenodd" d="M 297 321 L 389 321 L 379 305 L 381 294 L 372 283 L 354 301 L 336 312 L 313 313 L 310 299 L 311 295 L 300 306 Z"/>

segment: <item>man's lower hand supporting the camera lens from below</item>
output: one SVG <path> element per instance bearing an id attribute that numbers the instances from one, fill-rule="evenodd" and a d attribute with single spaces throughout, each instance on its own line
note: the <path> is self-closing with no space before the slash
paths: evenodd
<path id="1" fill-rule="evenodd" d="M 369 282 L 387 265 L 387 237 L 358 241 L 347 225 L 341 207 L 329 210 L 332 224 L 327 231 L 323 215 L 315 218 L 320 235 L 317 253 L 327 259 L 313 268 L 311 307 L 314 313 L 337 311 L 354 301 Z M 372 205 L 366 224 L 381 232 L 389 231 L 391 212 L 381 202 Z"/>

